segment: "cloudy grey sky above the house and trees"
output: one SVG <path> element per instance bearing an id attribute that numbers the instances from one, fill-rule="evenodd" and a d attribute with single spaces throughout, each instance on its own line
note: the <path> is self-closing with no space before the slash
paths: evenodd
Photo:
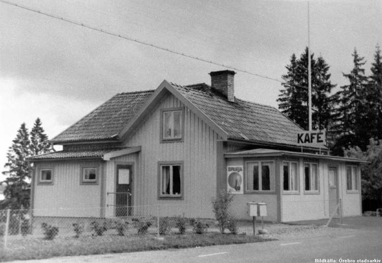
<path id="1" fill-rule="evenodd" d="M 281 79 L 308 45 L 306 1 L 9 0 L 218 64 Z M 310 47 L 346 85 L 357 48 L 370 73 L 382 45 L 382 1 L 311 1 Z M 0 3 L 0 171 L 22 122 L 39 117 L 49 138 L 116 93 L 167 80 L 210 84 L 222 66 L 92 31 Z M 235 96 L 277 107 L 281 84 L 237 72 Z M 0 176 L 0 180 L 4 179 Z"/>

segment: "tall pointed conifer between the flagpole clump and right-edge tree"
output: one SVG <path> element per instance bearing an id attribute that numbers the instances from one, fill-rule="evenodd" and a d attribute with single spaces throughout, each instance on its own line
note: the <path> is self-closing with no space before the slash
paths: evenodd
<path id="1" fill-rule="evenodd" d="M 373 114 L 371 111 L 372 92 L 365 76 L 363 66 L 366 61 L 360 57 L 357 49 L 351 55 L 353 69 L 343 76 L 348 78 L 349 85 L 341 87 L 337 93 L 339 107 L 337 109 L 336 130 L 339 134 L 336 145 L 333 147 L 335 154 L 343 154 L 342 148 L 359 146 L 365 151 L 369 139 L 372 137 Z"/>

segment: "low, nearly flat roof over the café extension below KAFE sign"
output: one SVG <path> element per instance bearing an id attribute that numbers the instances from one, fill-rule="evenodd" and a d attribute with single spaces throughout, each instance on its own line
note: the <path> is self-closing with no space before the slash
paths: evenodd
<path id="1" fill-rule="evenodd" d="M 274 149 L 252 149 L 245 151 L 235 151 L 228 152 L 224 154 L 226 158 L 237 158 L 237 157 L 277 157 L 277 156 L 290 156 L 290 157 L 303 157 L 303 158 L 313 158 L 313 159 L 325 159 L 332 161 L 342 161 L 342 162 L 350 162 L 350 163 L 367 163 L 365 159 L 357 159 L 350 157 L 341 157 L 341 156 L 333 156 L 333 155 L 322 155 L 322 154 L 314 154 L 307 152 L 295 152 L 295 151 L 282 151 L 282 150 L 274 150 Z"/>

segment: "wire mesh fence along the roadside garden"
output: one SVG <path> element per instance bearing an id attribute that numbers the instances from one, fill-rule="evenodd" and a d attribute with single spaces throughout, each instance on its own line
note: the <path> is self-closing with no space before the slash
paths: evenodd
<path id="1" fill-rule="evenodd" d="M 211 206 L 199 208 L 211 211 Z M 220 226 L 212 216 L 186 217 L 185 212 L 189 209 L 184 205 L 115 207 L 115 216 L 110 218 L 72 216 L 73 211 L 77 213 L 80 210 L 82 213 L 78 215 L 84 215 L 100 209 L 88 207 L 0 210 L 0 251 L 28 248 L 36 244 L 41 247 L 51 245 L 52 242 L 64 245 L 72 242 L 113 245 L 127 240 L 220 232 Z M 229 231 L 235 231 L 234 217 L 226 216 L 232 218 Z"/>

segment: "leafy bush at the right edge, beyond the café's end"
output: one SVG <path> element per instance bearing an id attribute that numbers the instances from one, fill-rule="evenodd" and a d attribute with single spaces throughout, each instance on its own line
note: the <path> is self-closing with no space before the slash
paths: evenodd
<path id="1" fill-rule="evenodd" d="M 360 147 L 350 147 L 345 150 L 348 157 L 366 159 L 369 163 L 361 166 L 362 198 L 375 200 L 378 207 L 382 206 L 382 140 L 369 140 L 366 151 Z"/>

